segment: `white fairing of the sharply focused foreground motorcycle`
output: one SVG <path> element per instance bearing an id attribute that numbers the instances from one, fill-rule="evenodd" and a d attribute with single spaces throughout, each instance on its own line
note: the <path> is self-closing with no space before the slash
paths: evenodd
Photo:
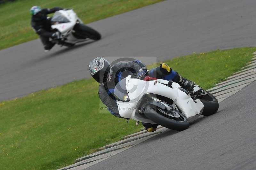
<path id="1" fill-rule="evenodd" d="M 164 84 L 168 84 L 168 81 L 158 79 L 156 83 L 156 80 L 143 81 L 131 79 L 131 75 L 126 77 L 126 89 L 130 101 L 117 101 L 120 116 L 141 122 L 154 123 L 149 119 L 145 119 L 140 114 L 135 114 L 141 98 L 146 93 L 158 94 L 172 99 L 180 108 L 181 112 L 188 118 L 189 122 L 193 122 L 202 114 L 204 104 L 199 99 L 195 102 L 190 96 L 179 89 L 180 85 L 178 83 L 173 82 L 172 88 Z"/>

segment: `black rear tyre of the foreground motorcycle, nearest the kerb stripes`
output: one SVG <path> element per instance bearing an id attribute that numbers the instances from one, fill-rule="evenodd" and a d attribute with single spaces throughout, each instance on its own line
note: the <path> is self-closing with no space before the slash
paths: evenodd
<path id="1" fill-rule="evenodd" d="M 204 104 L 204 110 L 202 115 L 210 116 L 218 111 L 219 102 L 216 97 L 214 97 L 211 93 L 207 92 L 206 95 L 197 96 L 196 98 Z"/>

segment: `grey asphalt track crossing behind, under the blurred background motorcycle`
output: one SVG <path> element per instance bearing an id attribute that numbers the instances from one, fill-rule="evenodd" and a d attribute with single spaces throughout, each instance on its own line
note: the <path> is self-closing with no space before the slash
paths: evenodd
<path id="1" fill-rule="evenodd" d="M 96 56 L 143 57 L 146 64 L 255 45 L 255 0 L 169 0 L 89 26 L 102 40 L 44 52 L 37 39 L 0 51 L 0 101 L 90 77 Z M 202 63 L 203 64 L 203 63 Z"/>

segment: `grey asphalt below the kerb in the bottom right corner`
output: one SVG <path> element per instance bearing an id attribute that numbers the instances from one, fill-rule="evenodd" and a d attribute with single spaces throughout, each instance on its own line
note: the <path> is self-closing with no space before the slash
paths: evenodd
<path id="1" fill-rule="evenodd" d="M 256 81 L 184 131 L 165 131 L 86 170 L 254 170 L 255 86 Z"/>

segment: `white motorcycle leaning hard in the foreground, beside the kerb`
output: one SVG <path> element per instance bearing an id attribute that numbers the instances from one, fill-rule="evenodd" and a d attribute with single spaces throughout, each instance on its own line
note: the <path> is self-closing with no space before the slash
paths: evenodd
<path id="1" fill-rule="evenodd" d="M 195 86 L 187 91 L 178 83 L 149 78 L 140 80 L 132 75 L 121 80 L 114 95 L 120 116 L 159 124 L 173 130 L 184 130 L 201 114 L 209 116 L 219 109 L 218 100 Z"/>

